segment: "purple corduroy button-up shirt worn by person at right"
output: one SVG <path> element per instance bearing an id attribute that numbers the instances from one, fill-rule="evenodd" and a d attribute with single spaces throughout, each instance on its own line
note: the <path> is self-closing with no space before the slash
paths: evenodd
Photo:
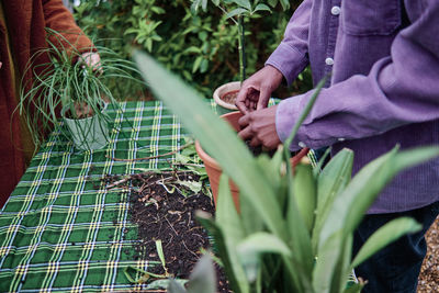
<path id="1" fill-rule="evenodd" d="M 391 150 L 439 143 L 439 0 L 304 0 L 267 65 L 291 83 L 311 65 L 331 72 L 291 148 L 354 151 L 353 172 Z M 283 100 L 275 126 L 290 134 L 313 91 Z M 301 144 L 302 143 L 302 144 Z M 369 213 L 439 200 L 439 159 L 399 173 Z"/>

